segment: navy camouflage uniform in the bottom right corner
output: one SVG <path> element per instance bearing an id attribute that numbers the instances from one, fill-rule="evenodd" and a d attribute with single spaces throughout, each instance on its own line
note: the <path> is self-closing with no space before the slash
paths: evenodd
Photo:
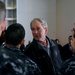
<path id="1" fill-rule="evenodd" d="M 75 75 L 75 57 L 67 60 L 62 65 L 60 75 Z"/>

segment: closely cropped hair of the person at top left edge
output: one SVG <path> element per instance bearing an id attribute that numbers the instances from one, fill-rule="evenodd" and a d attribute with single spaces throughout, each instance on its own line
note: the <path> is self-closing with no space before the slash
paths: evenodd
<path id="1" fill-rule="evenodd" d="M 6 9 L 5 9 L 5 4 L 0 1 L 0 24 L 2 23 L 2 21 L 5 19 L 5 14 L 6 14 Z"/>

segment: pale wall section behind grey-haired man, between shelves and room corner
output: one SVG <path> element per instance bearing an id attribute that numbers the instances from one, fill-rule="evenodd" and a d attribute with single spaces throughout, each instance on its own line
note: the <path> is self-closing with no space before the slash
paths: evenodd
<path id="1" fill-rule="evenodd" d="M 44 18 L 48 22 L 48 36 L 56 37 L 56 0 L 17 0 L 17 22 L 23 24 L 26 30 L 26 44 L 32 40 L 30 21 Z"/>

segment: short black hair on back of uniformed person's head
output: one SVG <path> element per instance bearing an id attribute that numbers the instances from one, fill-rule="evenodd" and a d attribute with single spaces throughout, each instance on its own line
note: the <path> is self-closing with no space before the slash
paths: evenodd
<path id="1" fill-rule="evenodd" d="M 19 23 L 11 24 L 6 30 L 6 44 L 17 46 L 25 37 L 25 29 Z"/>

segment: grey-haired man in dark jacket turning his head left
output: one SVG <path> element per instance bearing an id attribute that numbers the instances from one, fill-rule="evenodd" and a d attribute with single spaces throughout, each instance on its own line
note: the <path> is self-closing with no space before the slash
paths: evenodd
<path id="1" fill-rule="evenodd" d="M 61 59 L 57 44 L 46 36 L 47 22 L 34 18 L 30 28 L 33 41 L 27 45 L 25 54 L 38 64 L 42 75 L 56 75 L 61 66 Z"/>

